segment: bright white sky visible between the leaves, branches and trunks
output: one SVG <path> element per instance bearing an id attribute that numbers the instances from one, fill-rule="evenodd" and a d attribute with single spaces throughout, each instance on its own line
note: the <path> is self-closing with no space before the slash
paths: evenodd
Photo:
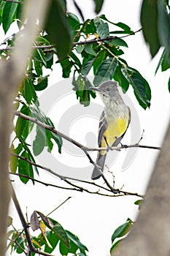
<path id="1" fill-rule="evenodd" d="M 109 20 L 115 23 L 119 21 L 126 23 L 132 30 L 136 31 L 141 27 L 139 23 L 141 2 L 142 1 L 136 0 L 105 0 L 101 14 L 104 13 Z M 92 11 L 93 1 L 77 0 L 77 4 L 80 5 L 85 19 L 95 16 L 95 13 Z M 72 1 L 70 0 L 68 1 L 68 7 L 71 12 L 74 12 L 74 7 L 72 7 Z M 168 72 L 161 73 L 159 71 L 158 75 L 154 75 L 160 54 L 151 61 L 142 34 L 138 33 L 136 36 L 127 37 L 125 41 L 128 43 L 128 48 L 123 49 L 125 51 L 123 58 L 128 62 L 130 67 L 134 67 L 141 72 L 144 78 L 150 83 L 152 90 L 151 107 L 148 110 L 142 110 L 134 97 L 133 91 L 131 89 L 128 91 L 128 98 L 134 103 L 139 116 L 140 132 L 142 132 L 142 129 L 145 131 L 141 143 L 150 146 L 161 146 L 167 119 L 169 118 L 170 101 L 167 86 L 169 74 Z M 61 80 L 63 80 L 61 70 L 59 69 L 59 65 L 55 65 L 53 73 L 50 76 L 50 84 L 53 85 Z M 66 100 L 66 108 L 63 108 L 63 105 L 61 105 L 57 113 L 53 108 L 50 110 L 50 117 L 56 126 L 58 119 L 62 118 L 63 114 L 66 113 L 69 108 L 77 104 L 76 97 L 70 95 L 62 100 Z M 92 102 L 101 104 L 99 97 Z M 59 99 L 57 104 L 62 104 L 61 99 Z M 55 118 L 57 119 L 56 121 Z M 95 129 L 98 127 L 97 119 L 85 118 L 87 117 L 82 116 L 82 118 L 78 118 L 78 120 L 73 121 L 72 126 L 69 127 L 69 135 L 72 135 L 72 138 L 78 141 L 80 141 L 81 138 L 85 140 L 85 134 L 88 133 L 90 126 L 94 125 Z M 89 125 L 85 126 L 85 121 L 87 120 Z M 131 125 L 133 125 L 133 122 L 132 120 Z M 79 132 L 75 132 L 75 130 L 79 130 Z M 129 140 L 129 136 L 131 135 L 127 134 L 127 136 L 123 138 L 123 143 L 128 144 L 127 140 Z M 126 153 L 126 151 L 121 151 L 117 161 L 112 167 L 115 174 L 116 187 L 120 188 L 124 185 L 123 189 L 126 191 L 144 193 L 158 152 L 150 149 L 140 149 L 137 151 L 134 162 L 128 167 L 128 170 L 122 172 L 121 169 Z M 80 160 L 84 161 L 84 158 Z M 70 157 L 69 165 L 74 166 L 74 163 L 75 157 L 73 157 L 73 159 Z M 87 163 L 83 162 L 83 165 L 87 165 Z M 91 171 L 92 167 L 90 167 L 90 169 L 88 168 L 88 171 L 89 170 Z M 41 173 L 41 180 L 63 185 L 61 181 L 48 175 L 45 171 L 41 170 L 39 173 Z M 18 178 L 16 178 L 16 181 L 18 181 Z M 28 217 L 31 216 L 34 210 L 42 211 L 44 214 L 47 214 L 71 195 L 72 198 L 55 211 L 51 217 L 60 222 L 65 229 L 76 234 L 80 238 L 80 241 L 88 246 L 90 256 L 109 255 L 111 236 L 115 228 L 123 224 L 128 217 L 134 220 L 138 212 L 137 206 L 134 206 L 134 202 L 139 199 L 138 197 L 101 197 L 98 195 L 88 195 L 85 192 L 68 192 L 52 187 L 44 187 L 39 184 L 32 186 L 31 182 L 29 182 L 27 186 L 18 182 L 18 184 L 15 185 L 15 189 L 23 212 L 26 213 L 26 207 L 28 208 Z M 21 227 L 20 220 L 15 213 L 13 205 L 11 205 L 10 213 L 15 217 L 15 226 Z"/>

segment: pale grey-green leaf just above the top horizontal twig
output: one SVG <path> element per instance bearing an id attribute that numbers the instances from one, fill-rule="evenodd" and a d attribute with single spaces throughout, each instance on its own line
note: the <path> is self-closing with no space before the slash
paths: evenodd
<path id="1" fill-rule="evenodd" d="M 93 21 L 94 21 L 94 25 L 96 26 L 96 32 L 98 36 L 101 38 L 109 37 L 108 23 L 105 23 L 99 17 L 94 18 Z"/>

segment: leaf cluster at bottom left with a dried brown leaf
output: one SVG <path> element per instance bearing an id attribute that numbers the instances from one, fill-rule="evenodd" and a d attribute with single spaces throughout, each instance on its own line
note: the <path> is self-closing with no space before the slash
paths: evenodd
<path id="1" fill-rule="evenodd" d="M 9 218 L 9 226 L 12 226 L 12 219 Z M 87 255 L 88 248 L 81 243 L 80 239 L 68 230 L 64 230 L 60 223 L 50 217 L 46 217 L 39 211 L 34 211 L 31 214 L 30 226 L 32 230 L 40 230 L 38 236 L 32 236 L 32 243 L 36 249 L 41 249 L 44 252 L 52 253 L 58 249 L 61 255 Z M 28 242 L 26 234 L 23 230 L 9 229 L 8 232 L 9 244 L 8 248 L 11 252 L 18 254 L 25 251 Z M 31 252 L 31 255 L 35 255 Z"/>

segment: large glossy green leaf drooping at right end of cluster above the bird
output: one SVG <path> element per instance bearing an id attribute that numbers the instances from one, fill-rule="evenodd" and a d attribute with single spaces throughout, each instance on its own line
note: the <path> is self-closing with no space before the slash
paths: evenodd
<path id="1" fill-rule="evenodd" d="M 142 108 L 146 109 L 150 107 L 151 91 L 147 80 L 145 80 L 136 69 L 131 67 L 123 66 L 121 71 L 125 79 L 128 80 L 128 83 L 133 87 L 136 99 Z"/>

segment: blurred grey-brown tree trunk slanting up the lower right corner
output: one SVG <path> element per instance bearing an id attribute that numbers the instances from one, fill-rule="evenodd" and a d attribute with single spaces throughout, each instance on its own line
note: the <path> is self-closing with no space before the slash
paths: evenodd
<path id="1" fill-rule="evenodd" d="M 170 125 L 133 230 L 112 256 L 170 255 Z"/>

